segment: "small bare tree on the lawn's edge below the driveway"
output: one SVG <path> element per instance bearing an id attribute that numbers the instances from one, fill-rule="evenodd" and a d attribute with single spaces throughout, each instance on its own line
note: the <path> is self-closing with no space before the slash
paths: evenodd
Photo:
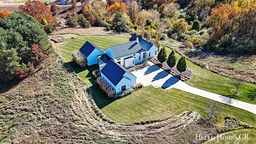
<path id="1" fill-rule="evenodd" d="M 222 106 L 217 101 L 211 101 L 209 105 L 205 107 L 206 115 L 208 117 L 207 121 L 218 119 L 222 109 Z"/>

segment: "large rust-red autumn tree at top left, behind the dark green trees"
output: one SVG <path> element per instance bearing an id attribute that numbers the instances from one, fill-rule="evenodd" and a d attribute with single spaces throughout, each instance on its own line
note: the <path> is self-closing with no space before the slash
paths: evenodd
<path id="1" fill-rule="evenodd" d="M 44 26 L 47 33 L 51 33 L 55 29 L 56 21 L 52 17 L 50 8 L 40 1 L 27 1 L 25 5 L 20 5 L 19 9 L 22 13 L 27 13 Z"/>

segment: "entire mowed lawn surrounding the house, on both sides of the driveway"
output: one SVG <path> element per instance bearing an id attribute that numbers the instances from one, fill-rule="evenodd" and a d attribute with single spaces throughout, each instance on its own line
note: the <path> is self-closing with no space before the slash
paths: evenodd
<path id="1" fill-rule="evenodd" d="M 127 42 L 128 39 L 116 36 L 76 36 L 76 39 L 68 39 L 66 42 L 54 45 L 57 52 L 74 68 L 82 81 L 91 86 L 94 101 L 102 110 L 103 114 L 110 119 L 119 123 L 134 123 L 149 119 L 168 118 L 184 110 L 195 110 L 199 111 L 202 116 L 206 115 L 204 107 L 210 100 L 175 89 L 162 90 L 148 86 L 116 101 L 107 99 L 99 91 L 98 86 L 95 85 L 94 79 L 92 78 L 91 71 L 95 67 L 81 69 L 72 61 L 71 53 L 78 50 L 85 41 L 90 41 L 100 47 L 100 49 L 106 50 L 108 46 Z M 167 51 L 170 52 L 171 50 L 167 49 Z M 177 54 L 177 56 L 179 55 Z M 214 74 L 191 62 L 188 62 L 188 68 L 193 71 L 193 78 L 188 82 L 189 85 L 222 95 L 229 95 L 235 89 L 231 85 L 231 78 Z M 243 92 L 252 89 L 252 86 L 253 84 L 244 83 L 244 86 L 240 89 L 241 93 L 238 96 L 243 98 Z M 256 115 L 242 109 L 226 105 L 223 106 L 225 109 L 222 111 L 220 121 L 218 122 L 219 125 L 223 126 L 223 117 L 231 116 L 237 118 L 239 121 L 255 126 Z"/>

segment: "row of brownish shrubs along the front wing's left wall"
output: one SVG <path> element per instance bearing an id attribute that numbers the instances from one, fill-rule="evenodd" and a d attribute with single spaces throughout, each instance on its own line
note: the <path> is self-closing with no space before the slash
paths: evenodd
<path id="1" fill-rule="evenodd" d="M 96 83 L 100 86 L 100 89 L 106 94 L 108 98 L 115 97 L 115 90 L 113 90 L 102 77 L 98 77 Z"/>

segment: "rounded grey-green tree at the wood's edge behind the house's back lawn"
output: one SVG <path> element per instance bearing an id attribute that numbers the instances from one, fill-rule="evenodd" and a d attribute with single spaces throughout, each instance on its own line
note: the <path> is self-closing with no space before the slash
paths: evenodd
<path id="1" fill-rule="evenodd" d="M 117 12 L 113 19 L 113 27 L 116 31 L 129 32 L 131 29 L 130 19 L 126 14 Z"/>

